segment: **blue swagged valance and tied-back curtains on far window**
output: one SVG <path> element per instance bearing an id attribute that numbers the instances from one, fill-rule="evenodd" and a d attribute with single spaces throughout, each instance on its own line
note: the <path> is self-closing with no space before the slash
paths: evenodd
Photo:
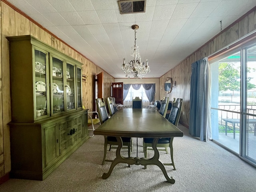
<path id="1" fill-rule="evenodd" d="M 156 84 L 155 83 L 149 83 L 149 84 L 124 84 L 124 100 L 129 92 L 130 87 L 134 88 L 134 90 L 139 90 L 141 85 L 143 86 L 146 96 L 149 100 L 149 102 L 154 101 L 155 99 L 155 93 L 156 93 Z"/>

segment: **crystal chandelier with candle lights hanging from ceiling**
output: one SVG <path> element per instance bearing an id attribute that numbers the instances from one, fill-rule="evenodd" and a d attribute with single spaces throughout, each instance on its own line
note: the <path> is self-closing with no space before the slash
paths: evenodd
<path id="1" fill-rule="evenodd" d="M 125 58 L 123 59 L 122 70 L 125 73 L 125 76 L 130 78 L 130 74 L 133 74 L 134 78 L 144 78 L 147 72 L 150 72 L 150 68 L 148 66 L 148 60 L 145 62 L 140 62 L 140 48 L 136 45 L 136 29 L 138 29 L 138 25 L 132 25 L 132 29 L 134 30 L 134 46 L 131 49 L 131 56 L 133 60 L 128 63 L 125 63 Z"/>

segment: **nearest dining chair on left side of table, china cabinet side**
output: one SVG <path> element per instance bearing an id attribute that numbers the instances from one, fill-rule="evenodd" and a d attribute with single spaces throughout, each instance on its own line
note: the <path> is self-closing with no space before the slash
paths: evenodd
<path id="1" fill-rule="evenodd" d="M 100 123 L 103 124 L 108 120 L 108 112 L 106 109 L 106 105 L 104 102 L 104 99 L 98 98 L 96 99 L 96 105 L 97 105 L 97 111 L 100 118 Z M 128 148 L 128 157 L 130 157 L 131 152 L 131 138 L 130 137 L 121 137 L 123 146 L 127 146 Z M 112 162 L 113 160 L 106 160 L 106 154 L 107 154 L 107 146 L 110 145 L 109 150 L 111 150 L 112 145 L 118 145 L 117 139 L 114 136 L 104 136 L 104 157 L 102 161 L 102 165 L 104 165 L 105 161 Z M 128 164 L 128 167 L 130 167 L 130 164 Z"/>

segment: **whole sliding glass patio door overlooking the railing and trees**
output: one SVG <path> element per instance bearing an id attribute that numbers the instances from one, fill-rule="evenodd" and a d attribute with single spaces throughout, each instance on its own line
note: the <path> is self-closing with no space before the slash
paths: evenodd
<path id="1" fill-rule="evenodd" d="M 256 165 L 256 44 L 210 61 L 212 138 Z"/>

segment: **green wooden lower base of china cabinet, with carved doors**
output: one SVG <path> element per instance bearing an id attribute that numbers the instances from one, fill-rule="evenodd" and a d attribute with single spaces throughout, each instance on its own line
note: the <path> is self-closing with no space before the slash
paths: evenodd
<path id="1" fill-rule="evenodd" d="M 11 178 L 44 180 L 52 173 L 90 138 L 87 111 L 34 123 L 11 122 Z"/>

